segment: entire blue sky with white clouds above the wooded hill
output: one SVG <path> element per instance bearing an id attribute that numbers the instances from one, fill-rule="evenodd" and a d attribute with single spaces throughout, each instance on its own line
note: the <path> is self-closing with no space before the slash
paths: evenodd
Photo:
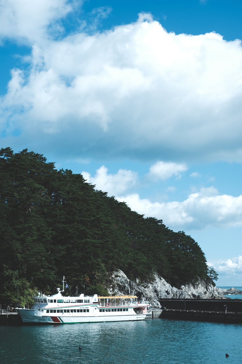
<path id="1" fill-rule="evenodd" d="M 242 282 L 241 1 L 0 0 L 1 147 L 184 230 Z"/>

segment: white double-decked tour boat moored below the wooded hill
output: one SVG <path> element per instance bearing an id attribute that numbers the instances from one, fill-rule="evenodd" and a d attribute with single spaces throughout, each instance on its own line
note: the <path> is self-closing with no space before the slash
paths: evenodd
<path id="1" fill-rule="evenodd" d="M 148 301 L 138 300 L 137 296 L 62 296 L 63 290 L 57 288 L 52 296 L 34 297 L 31 309 L 18 308 L 24 323 L 41 324 L 77 324 L 103 321 L 137 321 L 144 320 Z"/>

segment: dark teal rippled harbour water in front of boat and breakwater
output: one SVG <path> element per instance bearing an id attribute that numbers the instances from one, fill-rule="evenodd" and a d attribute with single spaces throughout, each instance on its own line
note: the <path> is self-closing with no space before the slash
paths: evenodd
<path id="1" fill-rule="evenodd" d="M 242 325 L 139 322 L 0 326 L 0 363 L 238 364 Z M 82 350 L 78 347 L 81 346 Z M 229 353 L 229 358 L 225 358 Z"/>

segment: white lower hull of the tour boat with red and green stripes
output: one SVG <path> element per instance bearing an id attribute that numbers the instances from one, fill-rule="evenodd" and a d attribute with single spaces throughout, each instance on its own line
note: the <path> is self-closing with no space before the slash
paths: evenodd
<path id="1" fill-rule="evenodd" d="M 18 309 L 23 323 L 34 324 L 81 324 L 112 321 L 139 321 L 144 320 L 146 314 L 122 314 L 122 315 L 95 315 L 95 316 L 49 316 L 43 315 L 38 310 Z"/>

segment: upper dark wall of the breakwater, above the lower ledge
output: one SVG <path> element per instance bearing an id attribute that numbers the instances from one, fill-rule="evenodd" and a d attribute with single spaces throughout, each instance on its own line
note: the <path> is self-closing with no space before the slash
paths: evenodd
<path id="1" fill-rule="evenodd" d="M 225 312 L 242 312 L 242 300 L 200 300 L 200 299 L 179 299 L 163 298 L 159 300 L 161 308 L 176 310 L 194 310 L 194 311 L 219 311 Z"/>

